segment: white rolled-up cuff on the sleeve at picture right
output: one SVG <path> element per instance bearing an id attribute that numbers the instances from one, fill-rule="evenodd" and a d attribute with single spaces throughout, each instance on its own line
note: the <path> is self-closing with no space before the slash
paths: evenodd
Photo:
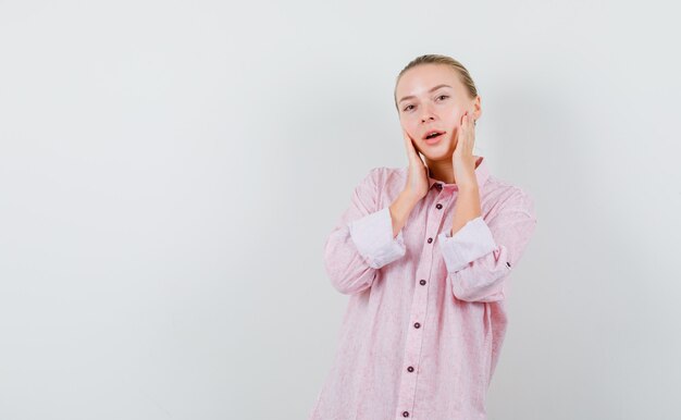
<path id="1" fill-rule="evenodd" d="M 447 231 L 437 235 L 437 239 L 448 272 L 457 272 L 497 248 L 482 217 L 469 220 L 454 236 Z"/>

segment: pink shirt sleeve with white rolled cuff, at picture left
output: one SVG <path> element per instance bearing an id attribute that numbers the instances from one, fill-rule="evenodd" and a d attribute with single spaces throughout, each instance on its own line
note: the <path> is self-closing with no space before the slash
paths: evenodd
<path id="1" fill-rule="evenodd" d="M 371 287 L 376 271 L 405 256 L 403 231 L 393 235 L 389 205 L 379 208 L 381 168 L 372 169 L 355 187 L 350 206 L 324 245 L 324 268 L 343 294 Z"/>

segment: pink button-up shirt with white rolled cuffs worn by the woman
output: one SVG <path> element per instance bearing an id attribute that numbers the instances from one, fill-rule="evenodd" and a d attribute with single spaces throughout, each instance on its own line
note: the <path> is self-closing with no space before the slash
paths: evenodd
<path id="1" fill-rule="evenodd" d="M 397 237 L 389 206 L 408 168 L 374 168 L 355 188 L 324 245 L 331 284 L 349 301 L 310 420 L 486 419 L 509 277 L 536 217 L 525 192 L 479 162 L 482 217 L 454 236 L 456 184 L 429 176 Z"/>

